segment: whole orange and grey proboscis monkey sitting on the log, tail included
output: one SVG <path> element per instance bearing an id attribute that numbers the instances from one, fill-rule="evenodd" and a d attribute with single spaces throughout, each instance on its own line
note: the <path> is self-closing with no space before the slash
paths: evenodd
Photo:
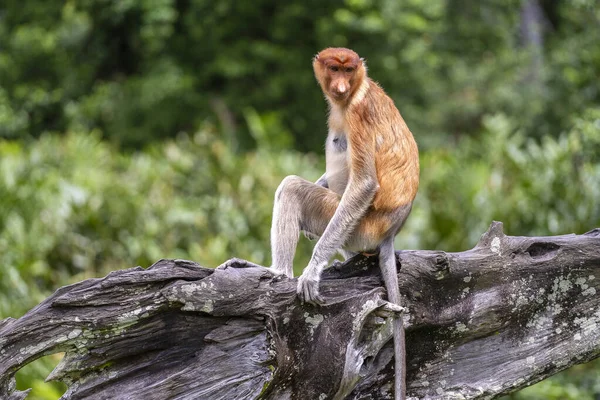
<path id="1" fill-rule="evenodd" d="M 394 237 L 417 194 L 417 145 L 392 99 L 369 79 L 354 51 L 325 49 L 313 68 L 329 103 L 327 167 L 316 183 L 288 176 L 279 185 L 271 227 L 273 268 L 292 277 L 300 231 L 319 237 L 297 291 L 303 302 L 321 304 L 321 271 L 337 251 L 346 258 L 378 252 L 388 300 L 399 304 Z M 404 399 L 402 318 L 393 323 L 395 396 Z"/>

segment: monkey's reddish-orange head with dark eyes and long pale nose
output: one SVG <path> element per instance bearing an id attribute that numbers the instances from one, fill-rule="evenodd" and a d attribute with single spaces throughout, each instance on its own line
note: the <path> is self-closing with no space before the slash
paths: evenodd
<path id="1" fill-rule="evenodd" d="M 322 50 L 313 59 L 313 69 L 323 93 L 340 105 L 349 101 L 366 76 L 364 60 L 344 48 Z"/>

